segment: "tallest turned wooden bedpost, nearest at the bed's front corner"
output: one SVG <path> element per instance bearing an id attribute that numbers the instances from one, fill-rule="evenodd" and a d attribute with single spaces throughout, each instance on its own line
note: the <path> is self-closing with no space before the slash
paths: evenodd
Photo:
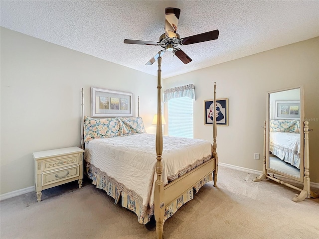
<path id="1" fill-rule="evenodd" d="M 154 216 L 156 220 L 156 234 L 157 238 L 161 239 L 163 235 L 163 224 L 164 224 L 164 213 L 165 205 L 163 202 L 164 197 L 164 183 L 162 180 L 162 171 L 163 166 L 161 163 L 161 154 L 163 151 L 163 135 L 161 128 L 161 57 L 158 58 L 159 70 L 158 70 L 158 121 L 156 126 L 156 154 L 157 154 L 157 163 L 156 163 L 156 174 L 157 179 L 155 182 L 155 191 L 154 191 Z"/>

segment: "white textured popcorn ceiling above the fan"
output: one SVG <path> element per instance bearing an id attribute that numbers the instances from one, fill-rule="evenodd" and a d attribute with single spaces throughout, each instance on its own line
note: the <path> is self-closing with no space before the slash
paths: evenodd
<path id="1" fill-rule="evenodd" d="M 157 75 L 145 64 L 160 46 L 124 44 L 158 41 L 164 9 L 181 9 L 180 37 L 219 30 L 219 38 L 180 48 L 193 60 L 184 65 L 162 56 L 167 78 L 319 36 L 319 1 L 92 1 L 1 0 L 1 26 L 107 61 Z"/>

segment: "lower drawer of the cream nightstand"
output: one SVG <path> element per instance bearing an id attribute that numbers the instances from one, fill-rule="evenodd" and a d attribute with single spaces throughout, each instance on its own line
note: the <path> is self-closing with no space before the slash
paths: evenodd
<path id="1" fill-rule="evenodd" d="M 42 174 L 42 186 L 79 176 L 79 165 Z"/>

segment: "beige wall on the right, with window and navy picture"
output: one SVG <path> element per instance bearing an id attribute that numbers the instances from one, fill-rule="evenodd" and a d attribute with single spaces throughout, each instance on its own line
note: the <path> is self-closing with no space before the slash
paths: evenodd
<path id="1" fill-rule="evenodd" d="M 217 129 L 219 161 L 260 171 L 267 92 L 304 85 L 305 118 L 314 129 L 310 133 L 310 176 L 319 182 L 318 37 L 165 79 L 165 89 L 194 83 L 195 138 L 212 141 L 211 126 L 204 125 L 204 100 L 213 98 L 214 82 L 217 98 L 229 99 L 229 126 Z M 167 104 L 164 107 L 167 110 Z M 260 153 L 260 160 L 254 159 L 254 153 Z"/>

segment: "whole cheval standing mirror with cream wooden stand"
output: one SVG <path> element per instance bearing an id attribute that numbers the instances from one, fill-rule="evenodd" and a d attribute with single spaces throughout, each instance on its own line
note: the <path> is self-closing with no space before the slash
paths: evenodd
<path id="1" fill-rule="evenodd" d="M 304 121 L 303 87 L 268 92 L 263 173 L 253 181 L 271 179 L 300 191 L 292 199 L 294 202 L 310 198 L 308 133 L 308 121 Z M 300 189 L 286 183 L 275 174 L 302 182 L 304 187 Z"/>

